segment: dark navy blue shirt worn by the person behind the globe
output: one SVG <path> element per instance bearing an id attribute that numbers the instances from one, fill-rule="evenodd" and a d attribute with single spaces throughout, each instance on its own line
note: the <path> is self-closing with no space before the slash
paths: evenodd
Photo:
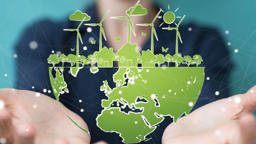
<path id="1" fill-rule="evenodd" d="M 86 23 L 99 23 L 95 7 L 87 9 L 86 13 L 91 16 L 90 21 Z M 109 17 L 107 17 L 109 18 Z M 179 20 L 178 20 L 179 21 Z M 178 23 L 176 21 L 176 23 Z M 154 54 L 175 54 L 176 44 L 176 31 L 162 30 L 162 27 L 168 25 L 160 24 L 163 19 L 155 21 L 155 29 L 159 41 L 154 40 Z M 60 51 L 66 55 L 76 52 L 71 52 L 70 48 L 76 48 L 76 32 L 67 32 L 63 29 L 76 28 L 80 21 L 41 21 L 35 23 L 32 27 L 28 27 L 21 35 L 19 42 L 16 44 L 17 51 L 17 83 L 16 88 L 22 90 L 31 90 L 43 93 L 43 89 L 51 90 L 49 80 L 48 57 Z M 84 22 L 85 23 L 85 22 Z M 103 24 L 104 25 L 104 24 Z M 80 55 L 89 55 L 98 51 L 99 41 L 98 33 L 99 27 L 91 27 L 92 32 L 87 32 L 89 26 L 82 25 L 80 27 L 80 34 L 84 44 L 79 43 Z M 175 25 L 173 26 L 175 27 Z M 192 31 L 188 31 L 191 27 Z M 229 96 L 228 89 L 228 69 L 231 66 L 229 61 L 229 53 L 227 44 L 222 37 L 223 33 L 218 32 L 216 29 L 209 27 L 198 27 L 192 23 L 179 27 L 183 44 L 179 42 L 179 53 L 184 55 L 193 56 L 199 54 L 203 58 L 200 66 L 205 67 L 205 80 L 201 94 L 198 98 L 196 105 L 192 110 L 202 107 L 212 101 L 216 101 Z M 89 38 L 93 37 L 96 44 L 92 45 Z M 137 36 L 138 37 L 138 36 Z M 108 37 L 107 37 L 108 38 Z M 37 43 L 36 49 L 31 49 L 29 43 L 35 41 Z M 102 46 L 107 46 L 104 38 L 102 39 Z M 149 38 L 142 50 L 150 49 L 151 39 Z M 86 46 L 87 50 L 83 50 Z M 162 52 L 162 47 L 169 48 L 167 53 Z M 162 64 L 163 65 L 163 64 Z M 167 65 L 167 64 L 166 64 Z M 56 64 L 55 66 L 62 66 Z M 66 63 L 64 66 L 70 66 Z M 114 65 L 116 66 L 116 65 Z M 170 66 L 175 66 L 171 63 Z M 187 66 L 187 65 L 180 65 Z M 193 66 L 193 65 L 191 65 Z M 195 66 L 195 65 L 194 65 Z M 96 117 L 101 114 L 101 99 L 107 99 L 103 91 L 100 91 L 102 81 L 107 80 L 111 88 L 115 87 L 112 75 L 116 73 L 118 68 L 100 68 L 99 72 L 92 74 L 89 69 L 80 69 L 77 77 L 69 74 L 69 69 L 64 69 L 64 79 L 68 84 L 69 93 L 64 93 L 60 96 L 60 101 L 71 111 L 77 113 L 87 123 L 91 133 L 91 143 L 99 140 L 107 141 L 110 144 L 122 144 L 122 138 L 117 133 L 106 133 L 96 126 Z M 206 80 L 209 77 L 210 80 Z M 34 86 L 34 89 L 32 89 Z M 219 95 L 215 95 L 215 91 L 219 91 Z M 53 96 L 53 93 L 44 93 L 48 96 Z M 79 100 L 82 100 L 80 103 Z M 57 103 L 56 103 L 57 104 Z M 80 112 L 83 108 L 84 112 Z M 67 118 L 67 117 L 66 117 Z M 161 144 L 162 134 L 165 128 L 172 122 L 171 117 L 165 117 L 165 120 L 160 123 L 153 133 L 150 133 L 147 138 L 152 137 L 147 142 L 140 142 L 141 144 Z M 70 124 L 72 122 L 70 121 Z"/>

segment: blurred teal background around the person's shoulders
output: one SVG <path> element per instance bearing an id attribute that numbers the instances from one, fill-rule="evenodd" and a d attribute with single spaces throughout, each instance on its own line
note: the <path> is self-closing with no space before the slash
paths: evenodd
<path id="1" fill-rule="evenodd" d="M 0 9 L 0 88 L 15 88 L 17 57 L 14 50 L 25 28 L 43 19 L 68 20 L 94 0 L 7 0 Z M 184 23 L 218 28 L 223 34 L 234 64 L 229 77 L 232 95 L 256 85 L 256 0 L 155 0 L 164 11 L 186 15 Z M 216 62 L 221 61 L 216 55 Z"/>

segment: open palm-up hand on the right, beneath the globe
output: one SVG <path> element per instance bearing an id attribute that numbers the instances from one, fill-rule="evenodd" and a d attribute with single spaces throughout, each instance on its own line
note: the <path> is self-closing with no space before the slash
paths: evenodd
<path id="1" fill-rule="evenodd" d="M 256 86 L 198 108 L 163 134 L 163 144 L 256 144 Z"/>

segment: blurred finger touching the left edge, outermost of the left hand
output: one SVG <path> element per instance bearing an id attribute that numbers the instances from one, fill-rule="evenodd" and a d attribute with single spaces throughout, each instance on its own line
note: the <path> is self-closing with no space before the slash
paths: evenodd
<path id="1" fill-rule="evenodd" d="M 0 138 L 5 138 L 7 143 L 13 143 L 14 127 L 11 123 L 11 114 L 4 107 L 0 109 Z"/>

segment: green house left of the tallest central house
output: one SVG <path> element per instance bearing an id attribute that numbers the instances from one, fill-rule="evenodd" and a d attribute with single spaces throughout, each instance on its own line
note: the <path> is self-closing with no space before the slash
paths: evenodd
<path id="1" fill-rule="evenodd" d="M 113 67 L 113 59 L 115 58 L 113 48 L 102 48 L 95 58 L 99 68 Z"/>

